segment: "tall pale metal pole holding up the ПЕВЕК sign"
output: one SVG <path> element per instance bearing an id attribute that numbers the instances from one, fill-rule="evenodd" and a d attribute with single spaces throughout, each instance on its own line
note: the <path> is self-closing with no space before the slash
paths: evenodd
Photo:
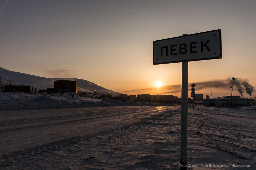
<path id="1" fill-rule="evenodd" d="M 188 34 L 182 34 L 182 36 Z M 188 62 L 182 62 L 181 78 L 181 134 L 180 134 L 180 169 L 187 169 L 188 135 Z"/>

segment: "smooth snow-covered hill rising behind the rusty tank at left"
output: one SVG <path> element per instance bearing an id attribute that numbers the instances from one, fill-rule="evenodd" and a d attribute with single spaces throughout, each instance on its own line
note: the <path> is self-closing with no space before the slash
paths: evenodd
<path id="1" fill-rule="evenodd" d="M 97 84 L 83 80 L 83 79 L 76 79 L 76 78 L 46 78 L 46 77 L 39 77 L 34 75 L 29 75 L 21 72 L 10 71 L 0 67 L 0 78 L 4 78 L 7 80 L 12 79 L 12 85 L 20 85 L 20 84 L 28 84 L 31 87 L 37 89 L 46 89 L 48 87 L 54 87 L 55 80 L 73 80 L 77 81 L 77 91 L 84 91 L 84 92 L 93 92 L 95 89 L 99 93 L 111 93 L 114 96 L 119 96 L 118 93 L 104 87 L 98 86 Z"/>

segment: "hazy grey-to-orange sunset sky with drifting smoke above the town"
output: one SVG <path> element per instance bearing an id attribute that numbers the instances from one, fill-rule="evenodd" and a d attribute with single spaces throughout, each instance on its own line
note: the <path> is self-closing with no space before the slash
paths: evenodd
<path id="1" fill-rule="evenodd" d="M 181 63 L 153 65 L 153 41 L 221 29 L 222 59 L 189 62 L 188 83 L 198 84 L 196 94 L 230 95 L 230 76 L 256 87 L 255 7 L 255 0 L 1 0 L 0 67 L 181 97 Z M 219 81 L 229 85 L 199 86 Z"/>

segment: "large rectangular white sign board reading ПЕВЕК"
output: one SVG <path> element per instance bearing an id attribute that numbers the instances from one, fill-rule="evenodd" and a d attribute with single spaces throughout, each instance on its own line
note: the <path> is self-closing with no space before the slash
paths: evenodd
<path id="1" fill-rule="evenodd" d="M 221 29 L 153 42 L 153 64 L 222 58 Z"/>

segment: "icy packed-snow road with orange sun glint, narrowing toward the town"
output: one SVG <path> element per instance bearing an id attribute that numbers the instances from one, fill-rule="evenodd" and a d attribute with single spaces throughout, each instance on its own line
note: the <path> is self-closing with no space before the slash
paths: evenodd
<path id="1" fill-rule="evenodd" d="M 120 129 L 170 107 L 89 107 L 1 111 L 1 154 L 33 146 Z"/>

